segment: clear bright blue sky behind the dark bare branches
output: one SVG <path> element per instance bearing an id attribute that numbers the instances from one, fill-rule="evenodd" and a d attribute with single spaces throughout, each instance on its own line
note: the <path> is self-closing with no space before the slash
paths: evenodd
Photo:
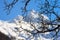
<path id="1" fill-rule="evenodd" d="M 0 0 L 0 20 L 12 20 L 13 18 L 15 18 L 17 15 L 21 15 L 21 7 L 24 5 L 24 3 L 22 4 L 22 2 L 20 2 L 21 0 L 19 0 L 18 3 L 16 3 L 16 5 L 14 5 L 13 9 L 11 10 L 11 13 L 9 15 L 7 15 L 6 11 L 4 11 L 4 1 Z M 60 1 L 60 0 L 59 0 Z M 12 2 L 12 0 L 9 0 L 8 3 Z M 44 2 L 44 1 L 43 1 Z M 42 3 L 43 3 L 42 2 Z M 30 1 L 29 6 L 27 6 L 27 9 L 34 9 L 36 11 L 38 11 L 37 9 L 37 4 L 38 1 L 35 3 L 34 0 Z M 60 4 L 60 3 L 59 3 Z M 60 8 L 55 8 L 55 11 L 58 12 L 58 14 L 60 15 Z M 53 16 L 52 16 L 53 17 Z"/>

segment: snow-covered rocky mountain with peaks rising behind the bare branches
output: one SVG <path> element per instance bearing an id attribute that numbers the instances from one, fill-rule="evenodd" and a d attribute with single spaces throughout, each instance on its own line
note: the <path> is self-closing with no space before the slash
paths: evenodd
<path id="1" fill-rule="evenodd" d="M 18 16 L 16 19 L 14 19 L 13 23 L 9 23 L 8 21 L 1 21 L 0 20 L 0 32 L 4 33 L 5 35 L 9 37 L 15 37 L 15 40 L 52 40 L 50 38 L 45 38 L 41 36 L 41 33 L 37 34 L 31 34 L 30 32 L 36 33 L 36 29 L 39 29 L 39 27 L 42 26 L 40 20 L 49 21 L 49 18 L 43 14 L 38 14 L 34 10 L 31 11 L 30 14 L 28 14 L 24 19 L 23 16 Z M 46 21 L 47 22 L 47 21 Z M 30 24 L 31 23 L 31 24 Z M 35 28 L 33 26 L 35 26 Z M 48 27 L 48 26 L 47 26 Z M 29 32 L 28 32 L 29 31 Z M 50 34 L 45 33 L 46 34 Z"/>

